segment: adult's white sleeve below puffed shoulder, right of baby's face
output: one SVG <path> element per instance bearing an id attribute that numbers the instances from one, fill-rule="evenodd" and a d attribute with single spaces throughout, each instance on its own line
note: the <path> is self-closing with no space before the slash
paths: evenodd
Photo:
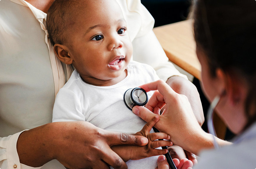
<path id="1" fill-rule="evenodd" d="M 144 36 L 135 38 L 132 43 L 133 60 L 152 66 L 160 79 L 167 81 L 171 76 L 181 76 L 187 79 L 186 75 L 181 74 L 174 65 L 169 62 L 153 30 L 149 31 Z"/>

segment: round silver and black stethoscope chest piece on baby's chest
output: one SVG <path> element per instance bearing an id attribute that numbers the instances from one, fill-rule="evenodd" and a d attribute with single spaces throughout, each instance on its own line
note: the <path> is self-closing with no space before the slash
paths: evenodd
<path id="1" fill-rule="evenodd" d="M 125 105 L 132 110 L 133 106 L 144 106 L 148 102 L 148 95 L 142 88 L 130 88 L 124 95 Z"/>

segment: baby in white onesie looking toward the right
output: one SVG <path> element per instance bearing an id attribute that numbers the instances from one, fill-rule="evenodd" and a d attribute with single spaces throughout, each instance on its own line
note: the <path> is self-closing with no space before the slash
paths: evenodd
<path id="1" fill-rule="evenodd" d="M 118 3 L 55 0 L 47 14 L 47 29 L 56 56 L 75 67 L 57 94 L 53 122 L 87 121 L 105 130 L 128 134 L 142 130 L 146 123 L 125 106 L 123 94 L 159 78 L 150 66 L 130 62 L 132 43 Z M 167 152 L 155 148 L 171 144 L 167 140 L 154 141 L 170 136 L 150 134 L 151 127 L 146 130 L 146 146 L 113 146 L 121 158 L 129 160 L 128 168 L 155 169 L 158 157 L 153 155 Z"/>

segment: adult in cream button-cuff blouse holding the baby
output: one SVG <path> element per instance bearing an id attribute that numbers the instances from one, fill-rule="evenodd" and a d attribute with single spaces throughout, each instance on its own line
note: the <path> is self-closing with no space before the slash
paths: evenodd
<path id="1" fill-rule="evenodd" d="M 118 3 L 131 27 L 133 57 L 149 60 L 178 93 L 199 101 L 194 86 L 167 62 L 145 7 L 137 0 Z M 125 168 L 110 147 L 145 145 L 146 138 L 108 132 L 86 122 L 50 123 L 55 95 L 71 74 L 70 66 L 52 55 L 47 39 L 45 19 L 51 4 L 52 0 L 0 1 L 0 168 L 64 168 L 52 159 L 73 168 Z M 202 124 L 201 104 L 193 103 Z"/>

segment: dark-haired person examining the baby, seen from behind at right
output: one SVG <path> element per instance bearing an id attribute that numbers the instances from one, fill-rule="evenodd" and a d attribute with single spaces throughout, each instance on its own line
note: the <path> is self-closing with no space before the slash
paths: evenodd
<path id="1" fill-rule="evenodd" d="M 197 0 L 193 12 L 202 87 L 212 105 L 217 103 L 217 114 L 237 135 L 233 143 L 205 133 L 186 96 L 163 81 L 140 86 L 157 91 L 146 108 L 135 106 L 133 113 L 145 121 L 160 116 L 155 127 L 168 133 L 174 144 L 201 157 L 194 168 L 256 167 L 255 9 L 255 0 Z M 156 115 L 161 108 L 165 109 L 162 115 Z M 213 138 L 219 149 L 214 149 Z M 166 168 L 166 160 L 159 157 L 158 169 Z"/>

